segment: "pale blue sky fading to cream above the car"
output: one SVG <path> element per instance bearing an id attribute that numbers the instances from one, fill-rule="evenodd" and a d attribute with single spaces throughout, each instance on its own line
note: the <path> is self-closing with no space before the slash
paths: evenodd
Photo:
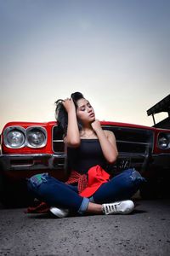
<path id="1" fill-rule="evenodd" d="M 168 0 L 0 0 L 0 133 L 75 91 L 97 119 L 151 126 L 169 81 Z"/>

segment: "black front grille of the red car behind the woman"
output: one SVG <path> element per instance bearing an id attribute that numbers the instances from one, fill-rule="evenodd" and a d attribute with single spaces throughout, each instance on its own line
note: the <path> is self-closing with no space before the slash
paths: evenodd
<path id="1" fill-rule="evenodd" d="M 107 167 L 108 172 L 116 175 L 127 168 L 144 172 L 150 153 L 153 151 L 153 131 L 112 125 L 102 125 L 102 127 L 104 130 L 114 132 L 119 152 L 116 163 Z M 64 155 L 63 133 L 58 126 L 54 126 L 53 129 L 53 150 L 54 154 Z"/>

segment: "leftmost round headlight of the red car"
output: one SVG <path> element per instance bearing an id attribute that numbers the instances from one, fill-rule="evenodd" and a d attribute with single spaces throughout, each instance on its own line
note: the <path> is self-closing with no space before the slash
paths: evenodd
<path id="1" fill-rule="evenodd" d="M 25 141 L 25 134 L 20 130 L 8 131 L 5 137 L 5 145 L 8 148 L 22 148 Z"/>

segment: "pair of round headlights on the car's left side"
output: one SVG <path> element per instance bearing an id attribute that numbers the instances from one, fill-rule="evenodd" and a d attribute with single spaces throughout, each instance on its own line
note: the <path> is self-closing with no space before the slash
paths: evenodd
<path id="1" fill-rule="evenodd" d="M 47 131 L 43 127 L 11 126 L 4 130 L 3 138 L 8 148 L 42 148 L 47 143 Z"/>

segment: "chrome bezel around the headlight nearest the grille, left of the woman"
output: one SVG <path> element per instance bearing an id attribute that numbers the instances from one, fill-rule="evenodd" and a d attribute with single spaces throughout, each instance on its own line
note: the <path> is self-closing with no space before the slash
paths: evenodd
<path id="1" fill-rule="evenodd" d="M 36 132 L 37 131 L 41 132 L 42 135 L 44 136 L 43 142 L 39 145 L 34 144 L 34 143 L 30 143 L 30 141 L 29 141 L 29 133 L 33 132 L 33 134 L 36 134 L 35 131 Z M 47 131 L 42 126 L 30 126 L 30 127 L 26 128 L 26 146 L 27 147 L 29 147 L 29 148 L 43 148 L 47 144 L 47 139 L 48 139 Z"/>

